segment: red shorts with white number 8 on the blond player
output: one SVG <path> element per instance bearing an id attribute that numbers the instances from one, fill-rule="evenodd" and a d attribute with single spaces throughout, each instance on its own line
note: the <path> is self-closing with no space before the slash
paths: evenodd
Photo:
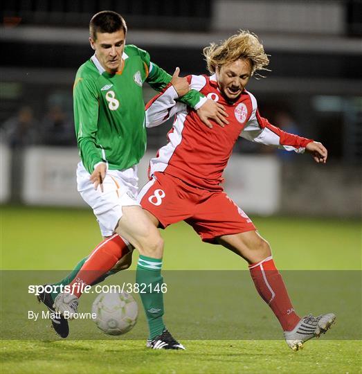
<path id="1" fill-rule="evenodd" d="M 255 230 L 251 219 L 223 191 L 209 191 L 185 184 L 172 175 L 156 172 L 142 188 L 138 202 L 159 220 L 161 227 L 185 221 L 203 242 L 221 235 Z"/>

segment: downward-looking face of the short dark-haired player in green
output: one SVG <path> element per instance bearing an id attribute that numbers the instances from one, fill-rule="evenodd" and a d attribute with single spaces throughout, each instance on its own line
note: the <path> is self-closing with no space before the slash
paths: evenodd
<path id="1" fill-rule="evenodd" d="M 123 29 L 115 33 L 96 33 L 97 39 L 91 37 L 89 42 L 96 51 L 96 56 L 100 64 L 109 73 L 120 71 L 123 66 L 123 49 L 125 48 L 125 32 Z"/>

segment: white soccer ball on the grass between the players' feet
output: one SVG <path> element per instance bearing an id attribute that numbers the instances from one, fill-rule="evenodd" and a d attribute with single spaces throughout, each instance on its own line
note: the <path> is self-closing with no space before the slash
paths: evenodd
<path id="1" fill-rule="evenodd" d="M 127 292 L 99 294 L 92 305 L 93 321 L 108 335 L 122 335 L 136 325 L 138 305 Z"/>

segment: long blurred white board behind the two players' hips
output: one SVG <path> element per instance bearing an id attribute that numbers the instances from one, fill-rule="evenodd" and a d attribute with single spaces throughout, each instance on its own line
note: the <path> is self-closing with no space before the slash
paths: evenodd
<path id="1" fill-rule="evenodd" d="M 156 152 L 147 152 L 138 165 L 138 185 L 147 182 L 147 168 Z M 85 206 L 77 191 L 75 148 L 28 148 L 24 154 L 23 199 L 26 204 Z M 234 155 L 224 177 L 228 195 L 246 213 L 277 213 L 280 202 L 280 164 L 271 156 Z"/>

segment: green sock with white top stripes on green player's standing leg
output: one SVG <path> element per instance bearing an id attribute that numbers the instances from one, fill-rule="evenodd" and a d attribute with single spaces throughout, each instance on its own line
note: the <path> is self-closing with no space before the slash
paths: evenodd
<path id="1" fill-rule="evenodd" d="M 161 276 L 162 258 L 152 258 L 140 255 L 136 271 L 136 283 L 145 309 L 149 339 L 161 335 L 165 324 L 163 323 L 163 278 Z"/>

